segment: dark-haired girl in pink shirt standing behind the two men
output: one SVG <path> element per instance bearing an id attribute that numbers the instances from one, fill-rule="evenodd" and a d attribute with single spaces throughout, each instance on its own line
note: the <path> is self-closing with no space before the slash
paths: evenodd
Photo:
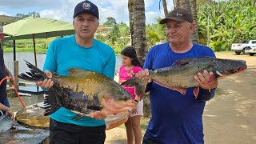
<path id="1" fill-rule="evenodd" d="M 122 50 L 122 66 L 119 70 L 119 83 L 126 82 L 128 79 L 135 77 L 135 74 L 142 70 L 142 64 L 138 61 L 136 51 L 133 47 L 127 47 Z M 123 88 L 135 98 L 134 87 Z M 141 117 L 143 115 L 143 101 L 139 101 L 138 105 L 129 110 L 129 119 L 126 121 L 127 143 L 132 144 L 142 142 Z"/>

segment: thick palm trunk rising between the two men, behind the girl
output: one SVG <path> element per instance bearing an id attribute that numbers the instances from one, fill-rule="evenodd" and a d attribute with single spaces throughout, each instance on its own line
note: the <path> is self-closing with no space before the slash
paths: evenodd
<path id="1" fill-rule="evenodd" d="M 131 45 L 139 60 L 144 63 L 146 56 L 146 17 L 144 0 L 128 0 Z"/>

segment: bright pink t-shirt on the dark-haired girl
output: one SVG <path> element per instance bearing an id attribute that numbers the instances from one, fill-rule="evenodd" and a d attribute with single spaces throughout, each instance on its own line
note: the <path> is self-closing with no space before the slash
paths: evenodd
<path id="1" fill-rule="evenodd" d="M 141 70 L 142 68 L 140 66 L 134 66 L 133 68 L 126 70 L 126 67 L 122 65 L 119 70 L 119 83 L 121 84 L 130 78 L 134 78 L 135 74 Z M 135 98 L 134 87 L 123 86 L 123 88 L 133 96 L 133 99 Z"/>

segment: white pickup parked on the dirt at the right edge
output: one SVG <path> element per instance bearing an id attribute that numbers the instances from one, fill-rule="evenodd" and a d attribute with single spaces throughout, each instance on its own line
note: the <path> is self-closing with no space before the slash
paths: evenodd
<path id="1" fill-rule="evenodd" d="M 242 43 L 232 43 L 231 50 L 235 54 L 246 54 L 246 51 L 250 50 L 252 46 L 256 46 L 256 40 L 244 40 Z"/>

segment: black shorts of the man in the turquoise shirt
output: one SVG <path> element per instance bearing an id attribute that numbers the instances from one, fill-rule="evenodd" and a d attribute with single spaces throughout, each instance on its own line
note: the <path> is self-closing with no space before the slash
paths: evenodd
<path id="1" fill-rule="evenodd" d="M 104 144 L 106 126 L 77 126 L 50 118 L 50 144 Z"/>

